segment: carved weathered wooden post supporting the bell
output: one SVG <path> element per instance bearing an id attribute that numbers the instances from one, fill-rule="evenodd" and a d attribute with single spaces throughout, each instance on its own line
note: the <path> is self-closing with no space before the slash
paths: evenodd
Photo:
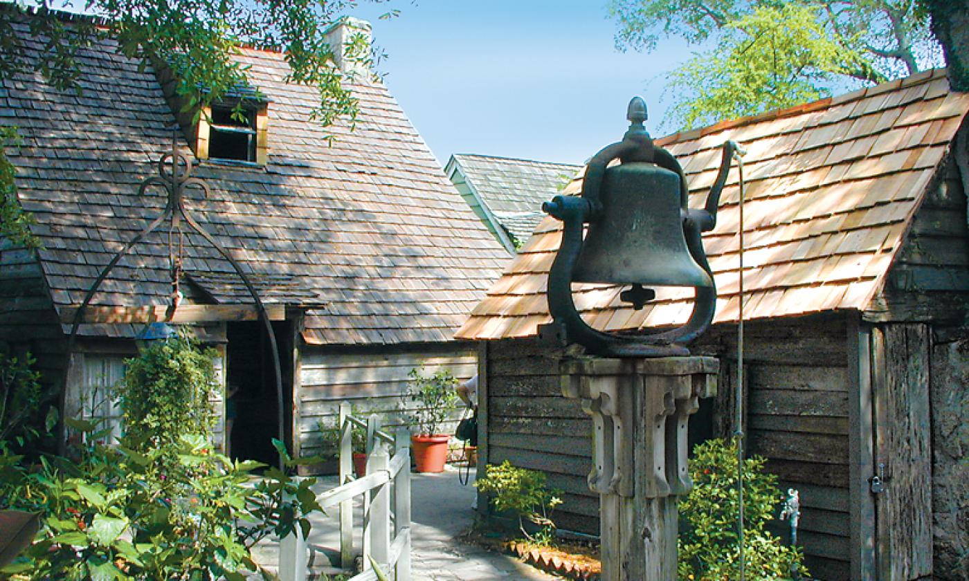
<path id="1" fill-rule="evenodd" d="M 562 392 L 594 426 L 588 482 L 600 498 L 603 581 L 675 581 L 676 496 L 693 486 L 688 418 L 715 394 L 718 369 L 700 356 L 562 362 Z"/>

